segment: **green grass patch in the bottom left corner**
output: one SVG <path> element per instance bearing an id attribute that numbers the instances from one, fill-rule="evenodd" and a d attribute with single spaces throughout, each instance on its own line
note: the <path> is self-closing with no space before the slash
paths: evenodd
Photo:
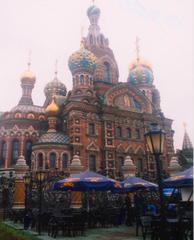
<path id="1" fill-rule="evenodd" d="M 3 240 L 40 240 L 39 238 L 31 235 L 30 233 L 26 233 L 24 231 L 20 231 L 14 229 L 5 223 L 0 223 L 0 239 Z"/>

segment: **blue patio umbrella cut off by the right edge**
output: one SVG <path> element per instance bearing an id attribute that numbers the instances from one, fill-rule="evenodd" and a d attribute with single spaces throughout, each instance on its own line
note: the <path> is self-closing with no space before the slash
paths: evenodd
<path id="1" fill-rule="evenodd" d="M 164 187 L 172 187 L 172 188 L 192 187 L 193 186 L 193 167 L 190 167 L 185 171 L 178 172 L 176 175 L 165 179 L 163 184 L 164 184 Z"/>

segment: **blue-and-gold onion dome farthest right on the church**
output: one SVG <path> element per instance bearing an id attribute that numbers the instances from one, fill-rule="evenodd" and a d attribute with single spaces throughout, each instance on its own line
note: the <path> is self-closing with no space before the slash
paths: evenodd
<path id="1" fill-rule="evenodd" d="M 129 66 L 128 82 L 132 84 L 152 84 L 154 80 L 151 65 L 144 61 L 138 60 Z"/>

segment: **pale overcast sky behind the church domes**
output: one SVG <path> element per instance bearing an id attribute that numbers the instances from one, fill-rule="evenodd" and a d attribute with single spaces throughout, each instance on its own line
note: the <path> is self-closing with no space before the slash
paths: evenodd
<path id="1" fill-rule="evenodd" d="M 140 56 L 153 66 L 154 84 L 161 95 L 165 116 L 174 120 L 175 148 L 182 147 L 183 122 L 194 139 L 194 26 L 193 0 L 96 0 L 99 25 L 109 39 L 126 82 L 128 65 L 135 58 L 135 38 Z M 34 104 L 44 102 L 43 89 L 58 76 L 72 87 L 67 61 L 79 49 L 81 28 L 86 36 L 90 0 L 0 1 L 0 111 L 10 110 L 21 97 L 20 76 L 31 50 L 36 75 Z"/>

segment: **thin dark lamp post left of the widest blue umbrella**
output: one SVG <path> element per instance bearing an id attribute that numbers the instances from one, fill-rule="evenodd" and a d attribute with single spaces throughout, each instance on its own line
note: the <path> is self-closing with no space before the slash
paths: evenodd
<path id="1" fill-rule="evenodd" d="M 38 198 L 39 198 L 38 234 L 41 235 L 42 183 L 45 180 L 45 172 L 42 170 L 36 172 L 36 180 L 37 180 L 37 184 L 38 184 Z"/>

